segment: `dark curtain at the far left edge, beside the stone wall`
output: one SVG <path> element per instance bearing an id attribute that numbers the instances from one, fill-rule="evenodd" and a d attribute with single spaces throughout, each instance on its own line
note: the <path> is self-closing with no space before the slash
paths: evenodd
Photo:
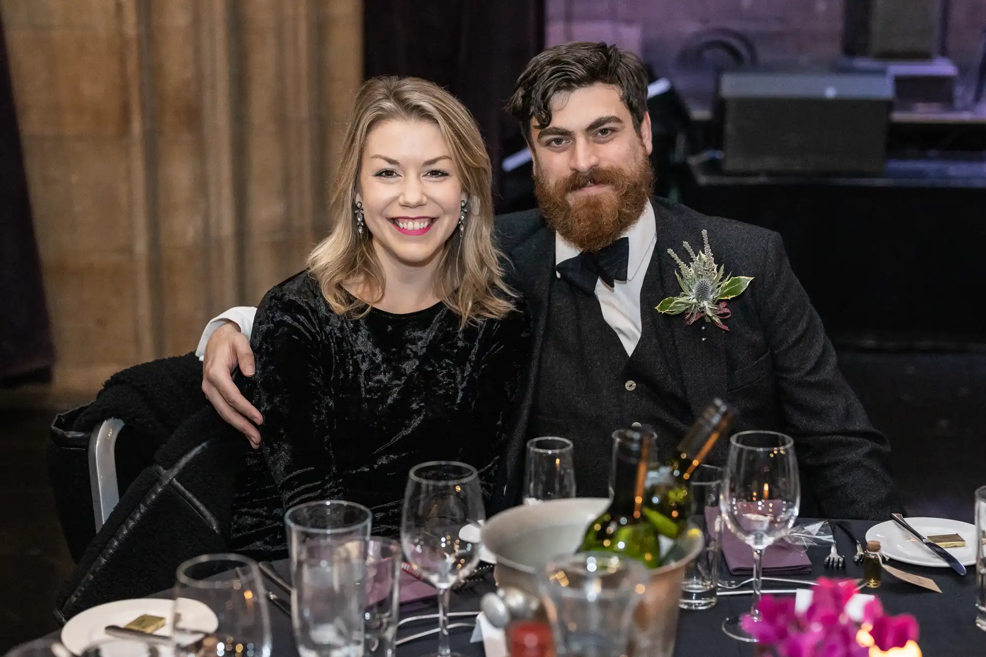
<path id="1" fill-rule="evenodd" d="M 53 359 L 0 20 L 0 385 L 44 379 Z"/>

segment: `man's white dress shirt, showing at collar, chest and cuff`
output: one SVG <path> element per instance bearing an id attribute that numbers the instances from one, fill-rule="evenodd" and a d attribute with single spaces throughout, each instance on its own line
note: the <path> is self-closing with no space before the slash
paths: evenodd
<path id="1" fill-rule="evenodd" d="M 654 246 L 657 243 L 657 219 L 654 216 L 654 207 L 648 201 L 644 208 L 644 213 L 640 216 L 640 221 L 634 224 L 624 236 L 630 241 L 630 253 L 627 260 L 626 276 L 627 279 L 615 281 L 613 287 L 609 287 L 601 279 L 596 283 L 596 298 L 599 299 L 599 309 L 602 311 L 602 319 L 610 328 L 616 331 L 619 341 L 626 349 L 627 355 L 633 353 L 637 342 L 640 340 L 642 323 L 640 319 L 640 290 L 644 286 L 644 276 L 647 274 L 647 265 L 654 254 Z M 575 257 L 581 252 L 565 241 L 560 235 L 555 234 L 555 264 Z M 557 275 L 557 274 L 556 274 Z M 240 326 L 240 330 L 248 339 L 253 328 L 253 317 L 256 314 L 255 308 L 249 306 L 238 306 L 231 308 L 222 315 L 212 319 L 202 337 L 198 341 L 198 348 L 195 355 L 201 360 L 205 354 L 205 344 L 209 341 L 212 332 L 227 322 L 235 322 Z"/>

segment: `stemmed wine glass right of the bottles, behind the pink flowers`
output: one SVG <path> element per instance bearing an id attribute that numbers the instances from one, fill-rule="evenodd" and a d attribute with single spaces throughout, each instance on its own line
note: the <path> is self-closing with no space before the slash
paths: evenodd
<path id="1" fill-rule="evenodd" d="M 774 431 L 742 431 L 730 439 L 730 457 L 719 508 L 726 526 L 753 548 L 751 621 L 760 620 L 763 550 L 784 538 L 798 519 L 801 480 L 795 443 Z M 740 617 L 723 621 L 723 631 L 749 643 L 756 638 L 740 626 Z"/>

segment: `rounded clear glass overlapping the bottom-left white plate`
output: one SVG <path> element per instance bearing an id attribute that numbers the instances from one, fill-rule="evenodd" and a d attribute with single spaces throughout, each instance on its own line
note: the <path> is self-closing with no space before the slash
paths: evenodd
<path id="1" fill-rule="evenodd" d="M 178 646 L 206 634 L 204 640 L 215 644 L 206 654 L 269 657 L 267 593 L 256 562 L 239 554 L 204 554 L 179 565 L 172 627 Z"/>

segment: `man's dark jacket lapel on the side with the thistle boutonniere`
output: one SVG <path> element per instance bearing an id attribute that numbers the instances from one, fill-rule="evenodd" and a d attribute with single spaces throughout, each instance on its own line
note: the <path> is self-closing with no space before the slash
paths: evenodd
<path id="1" fill-rule="evenodd" d="M 684 251 L 681 248 L 682 242 L 688 242 L 692 247 L 701 245 L 702 227 L 697 222 L 669 212 L 662 203 L 654 202 L 654 210 L 658 242 L 649 266 L 657 267 L 660 271 L 663 299 L 677 296 L 681 292 L 674 277 L 677 265 L 668 250 L 673 249 L 681 255 Z M 656 303 L 642 304 L 641 313 L 651 313 L 656 324 L 664 328 L 661 333 L 671 336 L 688 396 L 688 406 L 692 414 L 698 417 L 709 401 L 726 395 L 726 331 L 702 320 L 687 327 L 683 314 L 665 315 L 659 313 L 654 308 L 655 305 Z"/>

